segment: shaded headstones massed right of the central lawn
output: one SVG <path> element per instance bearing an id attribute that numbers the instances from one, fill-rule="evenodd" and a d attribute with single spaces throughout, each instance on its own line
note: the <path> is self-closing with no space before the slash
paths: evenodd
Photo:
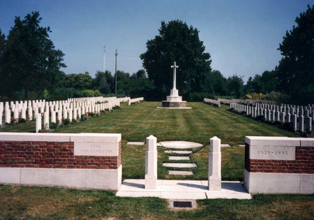
<path id="1" fill-rule="evenodd" d="M 256 106 L 254 107 L 250 105 L 230 103 L 230 108 L 234 108 L 234 110 L 237 110 L 238 112 L 246 112 L 246 115 L 252 115 L 252 117 L 262 115 L 266 121 L 291 122 L 294 131 L 312 131 L 314 105 L 296 106 L 282 104 L 279 106 L 256 103 Z M 304 123 L 306 126 L 304 126 Z"/>

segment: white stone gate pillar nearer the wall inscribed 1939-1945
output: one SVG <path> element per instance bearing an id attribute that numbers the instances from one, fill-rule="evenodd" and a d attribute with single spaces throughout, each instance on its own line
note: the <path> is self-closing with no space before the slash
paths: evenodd
<path id="1" fill-rule="evenodd" d="M 208 188 L 210 191 L 219 191 L 221 190 L 221 140 L 216 136 L 210 140 Z"/>

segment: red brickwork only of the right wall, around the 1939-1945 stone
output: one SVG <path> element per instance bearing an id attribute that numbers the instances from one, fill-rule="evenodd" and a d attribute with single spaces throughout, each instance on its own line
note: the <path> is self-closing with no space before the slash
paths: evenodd
<path id="1" fill-rule="evenodd" d="M 314 173 L 314 147 L 296 147 L 295 161 L 248 159 L 246 143 L 245 168 L 251 173 Z"/>

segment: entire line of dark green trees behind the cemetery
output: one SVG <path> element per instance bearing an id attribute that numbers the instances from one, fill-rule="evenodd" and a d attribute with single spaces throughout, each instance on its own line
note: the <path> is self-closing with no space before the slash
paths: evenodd
<path id="1" fill-rule="evenodd" d="M 0 29 L 0 100 L 45 98 L 58 100 L 82 96 L 111 96 L 114 74 L 97 71 L 66 75 L 60 68 L 63 52 L 49 38 L 50 27 L 40 27 L 38 12 L 15 25 L 5 36 Z M 314 6 L 296 18 L 297 26 L 287 31 L 279 45 L 283 58 L 273 71 L 255 74 L 246 84 L 242 76 L 226 78 L 211 69 L 199 31 L 180 20 L 161 22 L 159 35 L 147 41 L 140 54 L 143 70 L 117 71 L 118 96 L 144 96 L 161 101 L 172 89 L 173 61 L 177 62 L 177 89 L 187 101 L 204 97 L 267 98 L 285 103 L 314 103 Z"/>

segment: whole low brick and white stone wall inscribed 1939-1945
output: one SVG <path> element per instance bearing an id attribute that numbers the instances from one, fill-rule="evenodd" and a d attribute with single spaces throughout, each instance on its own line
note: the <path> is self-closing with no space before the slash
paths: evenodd
<path id="1" fill-rule="evenodd" d="M 249 193 L 314 193 L 314 138 L 246 137 Z"/>

